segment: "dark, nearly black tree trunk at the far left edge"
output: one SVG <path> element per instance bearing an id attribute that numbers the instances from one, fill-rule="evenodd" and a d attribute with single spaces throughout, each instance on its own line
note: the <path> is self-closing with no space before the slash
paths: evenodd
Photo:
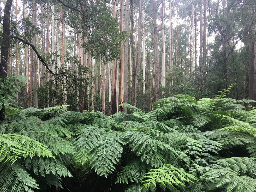
<path id="1" fill-rule="evenodd" d="M 7 77 L 8 51 L 10 46 L 10 12 L 13 0 L 7 0 L 4 7 L 3 33 L 0 59 L 0 77 Z M 0 121 L 4 119 L 5 108 L 0 110 Z"/>

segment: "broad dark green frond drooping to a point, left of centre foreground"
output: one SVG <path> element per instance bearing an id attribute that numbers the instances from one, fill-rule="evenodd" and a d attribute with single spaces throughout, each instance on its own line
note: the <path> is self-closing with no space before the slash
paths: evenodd
<path id="1" fill-rule="evenodd" d="M 87 127 L 77 138 L 78 154 L 75 159 L 82 164 L 90 163 L 98 175 L 107 177 L 121 158 L 122 143 L 115 131 Z"/>

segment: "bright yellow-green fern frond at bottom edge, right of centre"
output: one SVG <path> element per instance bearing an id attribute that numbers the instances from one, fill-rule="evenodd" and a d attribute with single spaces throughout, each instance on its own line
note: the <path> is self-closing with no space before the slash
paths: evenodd
<path id="1" fill-rule="evenodd" d="M 164 167 L 158 167 L 157 169 L 151 169 L 142 182 L 143 188 L 147 191 L 156 191 L 157 185 L 162 190 L 166 189 L 166 185 L 180 186 L 184 185 L 182 182 L 197 181 L 197 178 L 189 173 L 186 173 L 184 169 L 178 169 L 170 164 Z"/>

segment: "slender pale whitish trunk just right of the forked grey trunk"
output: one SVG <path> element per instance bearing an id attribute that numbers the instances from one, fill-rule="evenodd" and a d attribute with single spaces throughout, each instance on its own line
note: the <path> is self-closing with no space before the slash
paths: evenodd
<path id="1" fill-rule="evenodd" d="M 164 19 L 164 1 L 162 6 L 162 21 Z M 164 22 L 162 25 L 162 73 L 161 73 L 162 87 L 165 87 L 165 37 L 164 37 Z M 164 95 L 164 91 L 162 92 Z"/>

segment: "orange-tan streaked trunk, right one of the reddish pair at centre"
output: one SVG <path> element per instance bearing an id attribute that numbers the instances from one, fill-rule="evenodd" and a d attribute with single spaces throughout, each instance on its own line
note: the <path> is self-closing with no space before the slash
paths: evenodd
<path id="1" fill-rule="evenodd" d="M 120 0 L 120 33 L 123 33 L 123 1 Z M 121 41 L 121 52 L 120 52 L 120 62 L 119 62 L 119 69 L 120 69 L 120 104 L 124 102 L 124 44 L 123 40 Z M 120 107 L 120 111 L 123 111 L 123 107 Z"/>

